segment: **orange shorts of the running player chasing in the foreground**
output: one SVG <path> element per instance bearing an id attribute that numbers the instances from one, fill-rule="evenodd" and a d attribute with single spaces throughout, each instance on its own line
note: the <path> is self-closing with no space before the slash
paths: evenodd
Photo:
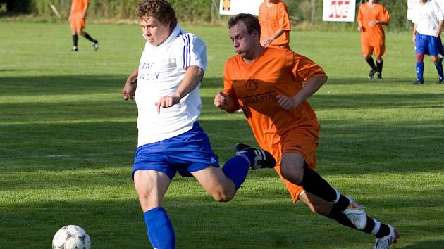
<path id="1" fill-rule="evenodd" d="M 295 129 L 287 132 L 281 137 L 280 149 L 278 155 L 273 155 L 276 158 L 278 164 L 274 167 L 274 170 L 278 172 L 280 179 L 290 192 L 293 203 L 299 200 L 300 193 L 304 190 L 302 186 L 292 184 L 290 181 L 284 179 L 280 174 L 280 159 L 283 153 L 294 152 L 299 153 L 304 157 L 307 167 L 312 170 L 316 169 L 316 150 L 318 148 L 319 141 L 319 129 Z"/>

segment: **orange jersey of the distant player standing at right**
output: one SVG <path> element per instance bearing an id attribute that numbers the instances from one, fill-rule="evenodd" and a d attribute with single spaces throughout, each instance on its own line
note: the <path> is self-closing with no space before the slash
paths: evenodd
<path id="1" fill-rule="evenodd" d="M 362 25 L 361 32 L 361 44 L 369 46 L 380 46 L 386 42 L 386 34 L 384 33 L 383 25 L 369 26 L 371 21 L 381 20 L 388 23 L 390 15 L 388 15 L 387 9 L 378 3 L 373 3 L 373 6 L 369 4 L 361 4 L 359 6 L 357 21 Z"/>

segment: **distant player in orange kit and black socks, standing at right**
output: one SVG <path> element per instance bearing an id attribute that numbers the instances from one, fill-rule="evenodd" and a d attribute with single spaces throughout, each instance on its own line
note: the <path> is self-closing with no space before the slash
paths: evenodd
<path id="1" fill-rule="evenodd" d="M 359 6 L 357 30 L 361 32 L 361 54 L 371 68 L 369 79 L 373 79 L 375 73 L 378 79 L 382 78 L 382 56 L 386 55 L 386 34 L 383 25 L 388 25 L 389 20 L 387 9 L 376 0 L 369 0 Z M 372 53 L 375 54 L 376 65 L 371 58 Z"/>

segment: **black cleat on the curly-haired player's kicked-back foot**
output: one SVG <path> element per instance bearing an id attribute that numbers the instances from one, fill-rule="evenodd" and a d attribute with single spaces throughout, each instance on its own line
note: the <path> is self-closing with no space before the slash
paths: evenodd
<path id="1" fill-rule="evenodd" d="M 242 153 L 248 153 L 252 158 L 254 158 L 254 162 L 251 162 L 251 167 L 253 170 L 276 166 L 276 160 L 268 151 L 264 151 L 260 148 L 254 148 L 245 143 L 236 144 L 235 155 L 241 155 Z"/>

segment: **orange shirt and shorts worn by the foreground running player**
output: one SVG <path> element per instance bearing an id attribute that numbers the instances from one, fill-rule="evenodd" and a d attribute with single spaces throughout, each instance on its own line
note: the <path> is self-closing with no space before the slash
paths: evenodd
<path id="1" fill-rule="evenodd" d="M 316 167 L 316 148 L 320 125 L 307 101 L 295 109 L 278 106 L 276 96 L 294 96 L 302 82 L 310 77 L 326 77 L 312 60 L 290 50 L 265 48 L 251 64 L 241 56 L 230 58 L 223 73 L 223 92 L 242 108 L 259 146 L 269 151 L 278 165 L 284 152 L 302 154 L 310 168 Z M 280 175 L 280 178 L 283 177 Z M 283 179 L 293 201 L 302 191 L 300 186 Z"/>

